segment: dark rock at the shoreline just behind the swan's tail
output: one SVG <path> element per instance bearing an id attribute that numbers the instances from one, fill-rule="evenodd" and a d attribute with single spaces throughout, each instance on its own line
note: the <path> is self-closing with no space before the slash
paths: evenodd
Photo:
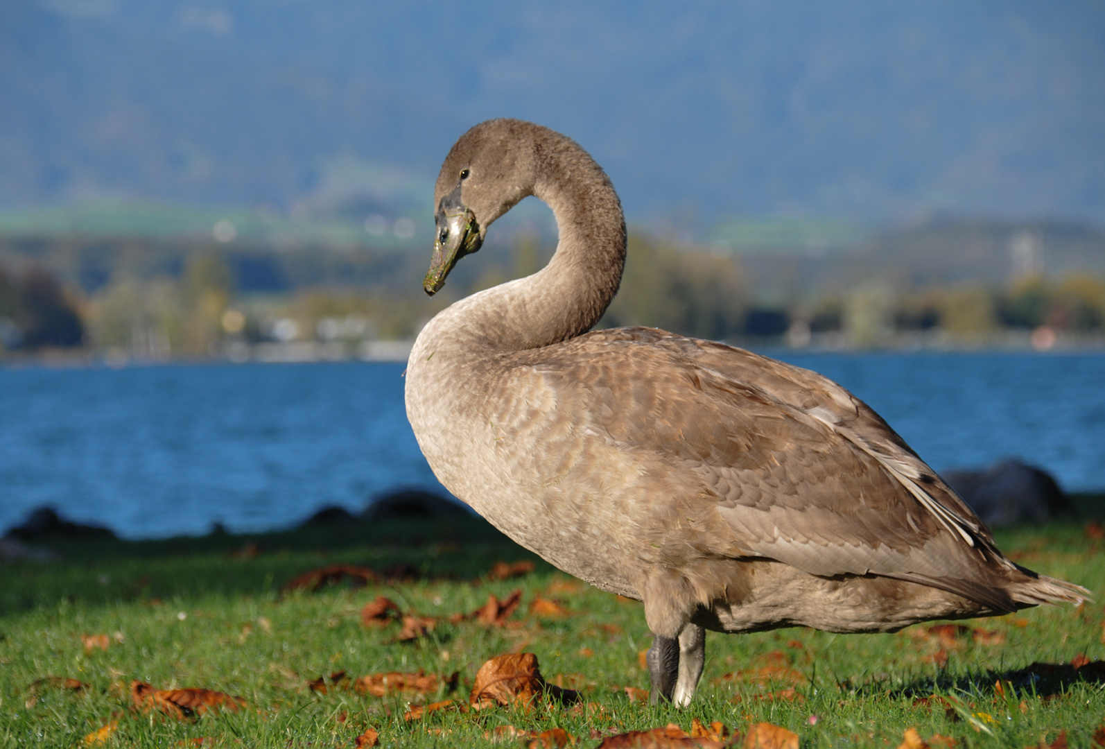
<path id="1" fill-rule="evenodd" d="M 1021 461 L 1001 461 L 985 471 L 951 471 L 944 479 L 991 528 L 1074 515 L 1055 479 Z"/>

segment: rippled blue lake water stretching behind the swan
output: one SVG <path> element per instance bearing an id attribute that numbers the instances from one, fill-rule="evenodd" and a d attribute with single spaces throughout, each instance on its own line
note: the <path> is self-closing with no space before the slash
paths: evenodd
<path id="1" fill-rule="evenodd" d="M 1105 487 L 1105 355 L 783 355 L 878 411 L 937 471 L 1019 456 Z M 0 532 L 41 505 L 131 538 L 285 527 L 438 487 L 401 363 L 0 369 Z"/>

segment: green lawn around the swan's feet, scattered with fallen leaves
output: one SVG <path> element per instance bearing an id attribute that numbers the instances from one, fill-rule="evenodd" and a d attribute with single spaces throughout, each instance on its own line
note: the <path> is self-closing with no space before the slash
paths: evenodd
<path id="1" fill-rule="evenodd" d="M 1081 524 L 1018 529 L 998 540 L 1021 563 L 1102 598 L 1103 541 L 1087 537 Z M 692 718 L 737 730 L 769 721 L 799 734 L 804 747 L 897 747 L 909 727 L 962 747 L 1036 746 L 1065 729 L 1072 747 L 1088 747 L 1105 721 L 1102 683 L 1061 682 L 1041 666 L 1010 673 L 1033 662 L 1067 664 L 1081 654 L 1102 658 L 1102 603 L 964 622 L 997 644 L 976 642 L 969 632 L 941 641 L 926 625 L 880 635 L 802 629 L 711 634 L 698 695 L 691 708 L 677 710 L 631 703 L 625 695 L 627 686 L 649 686 L 639 653 L 651 636 L 639 603 L 539 561 L 523 578 L 487 580 L 495 561 L 533 557 L 476 519 L 71 544 L 62 551 L 60 561 L 0 568 L 0 747 L 86 746 L 84 737 L 112 720 L 118 728 L 108 747 L 194 746 L 199 739 L 207 741 L 201 746 L 352 747 L 368 727 L 380 731 L 385 746 L 475 747 L 491 746 L 485 735 L 506 725 L 562 727 L 578 746 L 593 747 L 599 740 L 589 738 L 592 730 L 667 722 L 687 729 Z M 377 570 L 406 566 L 420 577 L 281 594 L 296 574 L 339 562 Z M 383 594 L 404 611 L 448 618 L 473 611 L 488 593 L 502 598 L 516 588 L 523 605 L 507 626 L 443 621 L 422 640 L 397 643 L 397 624 L 367 629 L 358 615 Z M 527 606 L 538 595 L 559 601 L 568 615 L 532 615 Z M 86 651 L 80 635 L 99 633 L 110 644 Z M 537 654 L 546 678 L 581 689 L 601 711 L 496 708 L 403 720 L 410 701 L 466 698 L 484 661 L 520 650 Z M 377 698 L 344 689 L 324 695 L 306 686 L 339 669 L 356 677 L 420 668 L 459 671 L 456 693 Z M 48 676 L 74 677 L 90 687 L 35 684 Z M 1003 676 L 1012 683 L 1003 682 L 999 692 L 994 684 Z M 141 714 L 128 709 L 131 679 L 157 688 L 218 689 L 248 706 L 190 720 Z"/>

